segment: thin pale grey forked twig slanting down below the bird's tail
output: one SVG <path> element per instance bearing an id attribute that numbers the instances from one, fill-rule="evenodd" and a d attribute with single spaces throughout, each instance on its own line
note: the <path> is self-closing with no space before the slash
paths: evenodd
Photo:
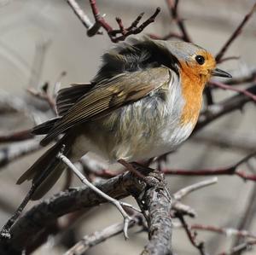
<path id="1" fill-rule="evenodd" d="M 84 177 L 84 175 L 76 168 L 75 165 L 73 165 L 73 163 L 67 159 L 67 157 L 61 153 L 59 153 L 57 155 L 58 159 L 61 159 L 61 161 L 66 164 L 72 171 L 73 173 L 79 177 L 79 179 L 81 180 L 82 183 L 84 183 L 87 187 L 89 187 L 90 189 L 92 189 L 94 192 L 96 192 L 96 194 L 99 194 L 100 196 L 102 196 L 102 198 L 104 198 L 105 200 L 108 200 L 110 203 L 113 204 L 113 206 L 116 206 L 119 210 L 119 212 L 122 214 L 122 216 L 124 217 L 124 235 L 125 235 L 125 239 L 128 238 L 128 233 L 127 233 L 127 229 L 128 229 L 128 225 L 131 221 L 131 217 L 127 214 L 127 212 L 125 212 L 124 208 L 122 206 L 127 206 L 132 208 L 133 210 L 136 210 L 137 212 L 140 212 L 137 208 L 126 204 L 124 202 L 121 202 L 119 200 L 115 200 L 112 197 L 110 197 L 108 194 L 105 194 L 104 192 L 102 192 L 102 190 L 100 190 L 99 188 L 96 188 L 96 186 L 94 186 L 92 183 L 90 183 L 86 177 Z"/>

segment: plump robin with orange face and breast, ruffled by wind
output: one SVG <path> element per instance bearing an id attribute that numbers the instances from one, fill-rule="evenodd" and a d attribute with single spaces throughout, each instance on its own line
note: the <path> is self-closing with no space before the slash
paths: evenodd
<path id="1" fill-rule="evenodd" d="M 35 135 L 46 135 L 42 146 L 55 145 L 17 184 L 36 183 L 44 172 L 31 199 L 43 197 L 65 169 L 56 157 L 61 148 L 72 162 L 90 151 L 110 163 L 127 164 L 172 152 L 194 129 L 212 76 L 231 77 L 194 43 L 151 38 L 119 43 L 102 55 L 102 66 L 90 83 L 58 92 L 58 116 L 32 129 Z"/>

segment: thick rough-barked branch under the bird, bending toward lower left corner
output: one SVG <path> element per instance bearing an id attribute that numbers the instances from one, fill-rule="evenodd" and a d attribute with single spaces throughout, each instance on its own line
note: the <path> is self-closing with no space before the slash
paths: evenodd
<path id="1" fill-rule="evenodd" d="M 145 169 L 143 174 L 147 176 L 150 171 L 150 169 Z M 137 177 L 134 177 L 130 172 L 126 172 L 118 177 L 113 177 L 105 183 L 96 185 L 96 187 L 101 188 L 102 192 L 111 195 L 115 199 L 124 198 L 129 194 L 133 194 L 138 199 L 138 197 L 145 197 L 141 195 L 145 194 L 149 200 L 141 199 L 141 203 L 142 205 L 143 203 L 146 203 L 145 205 L 148 205 L 148 211 L 150 212 L 150 217 L 148 217 L 150 218 L 148 228 L 151 228 L 150 226 L 154 221 L 157 222 L 154 218 L 155 216 L 160 216 L 160 213 L 163 214 L 163 221 L 160 221 L 160 224 L 165 223 L 162 228 L 165 228 L 166 234 L 168 234 L 165 235 L 166 239 L 164 240 L 166 240 L 165 242 L 168 244 L 166 247 L 169 247 L 169 244 L 171 243 L 171 229 L 167 228 L 171 226 L 171 218 L 169 217 L 171 215 L 170 210 L 172 208 L 172 203 L 170 203 L 169 195 L 166 196 L 166 184 L 162 189 L 160 188 L 160 185 L 155 185 L 156 183 L 162 182 L 156 178 L 150 178 L 149 181 L 154 184 L 150 188 L 148 188 L 145 183 L 137 180 Z M 153 194 L 154 197 L 151 196 Z M 156 199 L 157 197 L 160 197 L 161 199 Z M 168 203 L 166 204 L 167 200 Z M 44 232 L 44 229 L 47 228 L 49 224 L 55 222 L 58 217 L 69 212 L 76 212 L 83 208 L 96 206 L 104 202 L 106 202 L 106 200 L 103 199 L 102 196 L 99 196 L 99 194 L 94 192 L 92 193 L 88 187 L 71 188 L 66 192 L 61 192 L 60 194 L 55 195 L 49 200 L 44 200 L 37 206 L 33 206 L 31 210 L 18 219 L 12 229 L 10 229 L 11 238 L 7 241 L 0 242 L 0 252 L 3 252 L 6 255 L 14 254 L 14 252 L 32 246 L 33 241 L 37 240 L 38 236 Z M 153 206 L 156 205 L 155 203 L 157 203 L 158 208 L 162 209 L 160 209 L 160 212 L 151 213 L 153 212 L 152 210 L 154 210 Z M 151 231 L 153 231 L 153 228 L 151 228 Z M 163 231 L 163 229 L 160 229 L 160 233 L 162 233 L 161 231 Z M 157 241 L 161 243 L 162 240 L 155 239 L 156 237 L 163 237 L 162 235 L 159 235 L 158 231 L 152 236 L 152 241 L 154 241 L 155 244 Z"/>

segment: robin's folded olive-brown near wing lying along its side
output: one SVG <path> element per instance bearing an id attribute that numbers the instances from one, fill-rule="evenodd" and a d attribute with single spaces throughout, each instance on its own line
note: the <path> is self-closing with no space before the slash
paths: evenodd
<path id="1" fill-rule="evenodd" d="M 171 73 L 168 68 L 155 67 L 143 71 L 122 73 L 102 81 L 101 84 L 96 84 L 55 123 L 41 144 L 48 144 L 74 125 L 102 117 L 116 108 L 147 96 L 150 92 L 169 83 L 170 79 Z"/>

